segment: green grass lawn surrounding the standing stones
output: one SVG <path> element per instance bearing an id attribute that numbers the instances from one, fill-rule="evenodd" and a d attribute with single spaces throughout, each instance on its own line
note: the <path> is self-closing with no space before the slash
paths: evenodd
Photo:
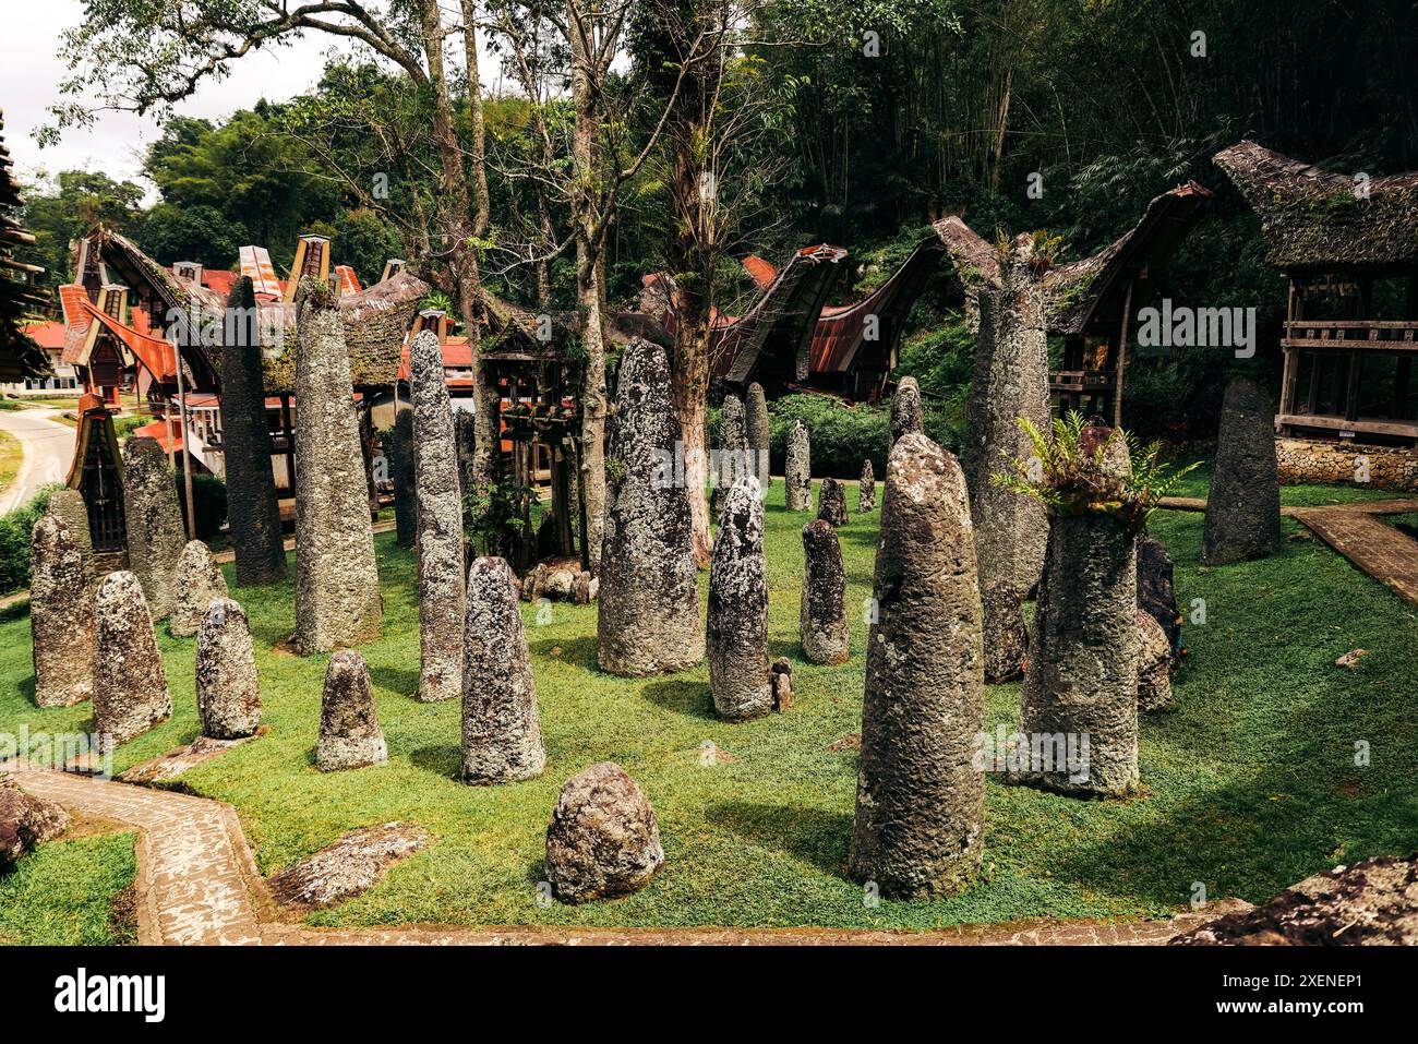
<path id="1" fill-rule="evenodd" d="M 1204 494 L 1205 479 L 1200 481 Z M 1190 492 L 1190 491 L 1188 491 Z M 1347 495 L 1285 491 L 1286 502 Z M 855 492 L 849 504 L 855 505 Z M 235 589 L 257 640 L 271 735 L 184 776 L 231 801 L 264 872 L 346 830 L 415 820 L 435 841 L 366 895 L 309 918 L 319 925 L 824 925 L 926 929 L 1031 916 L 1160 915 L 1194 882 L 1211 898 L 1261 901 L 1319 870 L 1418 848 L 1418 614 L 1319 540 L 1289 539 L 1273 557 L 1198 569 L 1202 516 L 1160 512 L 1153 532 L 1177 560 L 1190 627 L 1177 711 L 1141 723 L 1146 792 L 1083 801 L 998 786 L 987 794 L 986 868 L 964 894 L 868 908 L 844 877 L 856 755 L 830 743 L 861 728 L 866 628 L 854 613 L 851 662 L 814 667 L 797 645 L 804 515 L 770 495 L 770 655 L 794 661 L 787 715 L 729 725 L 710 712 L 705 668 L 625 681 L 596 668 L 596 609 L 556 606 L 546 626 L 525 607 L 547 772 L 533 782 L 455 783 L 459 708 L 424 705 L 418 677 L 414 559 L 376 538 L 386 634 L 363 647 L 389 739 L 384 767 L 322 776 L 313 769 L 325 657 L 275 644 L 294 628 L 292 587 Z M 871 590 L 878 515 L 841 531 L 849 601 Z M 1302 531 L 1285 522 L 1286 533 Z M 228 582 L 234 583 L 231 567 Z M 173 719 L 118 752 L 118 769 L 196 735 L 193 641 L 160 640 Z M 1354 671 L 1334 658 L 1368 650 Z M 37 711 L 30 699 L 28 621 L 0 623 L 0 731 L 21 723 L 86 726 L 86 708 Z M 993 687 L 987 726 L 1018 718 L 1017 685 Z M 702 740 L 733 762 L 705 767 Z M 1371 762 L 1354 763 L 1366 742 Z M 668 864 L 644 891 L 586 906 L 539 906 L 543 831 L 560 784 L 598 760 L 640 782 L 659 817 Z"/>

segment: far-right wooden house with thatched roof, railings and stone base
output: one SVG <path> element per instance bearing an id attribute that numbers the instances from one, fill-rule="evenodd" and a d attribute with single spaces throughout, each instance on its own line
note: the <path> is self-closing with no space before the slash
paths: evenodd
<path id="1" fill-rule="evenodd" d="M 1418 172 L 1330 173 L 1255 142 L 1214 160 L 1290 284 L 1282 479 L 1418 489 Z"/>

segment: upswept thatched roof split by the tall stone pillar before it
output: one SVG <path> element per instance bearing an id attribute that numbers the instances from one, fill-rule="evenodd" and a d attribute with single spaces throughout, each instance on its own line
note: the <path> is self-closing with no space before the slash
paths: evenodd
<path id="1" fill-rule="evenodd" d="M 1181 240 L 1197 223 L 1201 203 L 1211 193 L 1195 182 L 1154 197 L 1136 226 L 1092 257 L 1069 261 L 1044 275 L 1044 306 L 1049 333 L 1082 333 L 1099 316 L 1122 309 L 1120 277 L 1129 268 L 1153 275 L 1167 265 Z M 998 248 L 959 217 L 937 221 L 936 234 L 946 244 L 966 289 L 966 313 L 978 325 L 977 295 L 984 285 L 998 285 Z"/>

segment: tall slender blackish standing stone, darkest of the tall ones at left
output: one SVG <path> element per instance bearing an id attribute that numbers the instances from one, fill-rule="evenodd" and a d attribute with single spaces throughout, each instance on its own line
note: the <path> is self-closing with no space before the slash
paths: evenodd
<path id="1" fill-rule="evenodd" d="M 285 577 L 281 505 L 271 470 L 257 298 L 250 277 L 231 285 L 221 339 L 221 457 L 237 583 Z"/>

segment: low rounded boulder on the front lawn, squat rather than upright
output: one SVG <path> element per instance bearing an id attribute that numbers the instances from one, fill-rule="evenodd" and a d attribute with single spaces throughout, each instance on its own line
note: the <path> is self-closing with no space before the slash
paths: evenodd
<path id="1" fill-rule="evenodd" d="M 655 810 L 623 767 L 601 762 L 566 782 L 546 828 L 546 877 L 557 899 L 630 895 L 664 865 Z"/>

